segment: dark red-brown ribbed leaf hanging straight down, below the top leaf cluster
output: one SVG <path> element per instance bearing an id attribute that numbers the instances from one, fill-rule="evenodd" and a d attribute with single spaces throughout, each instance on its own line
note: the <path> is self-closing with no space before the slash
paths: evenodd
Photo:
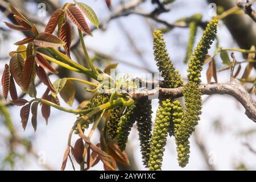
<path id="1" fill-rule="evenodd" d="M 67 53 L 67 56 L 70 57 L 70 47 L 72 42 L 72 32 L 71 26 L 68 22 L 65 22 L 60 28 L 60 39 L 65 42 L 64 49 Z"/>

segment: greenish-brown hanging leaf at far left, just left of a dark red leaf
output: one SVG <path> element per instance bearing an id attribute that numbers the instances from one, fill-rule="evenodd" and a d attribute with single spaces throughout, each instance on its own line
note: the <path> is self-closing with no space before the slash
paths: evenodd
<path id="1" fill-rule="evenodd" d="M 23 85 L 22 71 L 24 67 L 24 59 L 20 53 L 16 53 L 10 60 L 10 71 L 14 80 L 19 86 Z"/>

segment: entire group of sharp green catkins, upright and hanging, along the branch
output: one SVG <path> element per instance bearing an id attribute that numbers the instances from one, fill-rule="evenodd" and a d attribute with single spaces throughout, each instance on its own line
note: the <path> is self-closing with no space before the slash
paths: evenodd
<path id="1" fill-rule="evenodd" d="M 108 135 L 110 139 L 117 140 L 121 151 L 125 150 L 130 130 L 137 122 L 142 160 L 144 166 L 150 170 L 161 170 L 168 135 L 175 137 L 177 160 L 180 167 L 185 167 L 188 164 L 189 138 L 195 131 L 195 126 L 198 124 L 199 115 L 201 114 L 202 101 L 199 88 L 201 71 L 208 49 L 216 37 L 217 22 L 217 19 L 213 19 L 208 23 L 188 63 L 188 83 L 183 88 L 185 109 L 179 101 L 171 97 L 160 97 L 152 133 L 152 106 L 151 100 L 147 98 L 138 98 L 129 107 L 114 107 L 110 113 L 107 123 Z M 159 30 L 154 32 L 154 56 L 159 71 L 164 78 L 166 88 L 183 86 L 183 80 L 172 64 L 167 53 L 163 34 Z M 99 94 L 94 96 L 84 109 L 105 104 L 109 102 L 109 99 L 109 95 Z M 81 121 L 83 117 L 84 115 L 80 115 L 77 122 Z M 92 117 L 88 121 L 82 122 L 82 129 L 87 129 L 95 119 L 96 117 Z"/>

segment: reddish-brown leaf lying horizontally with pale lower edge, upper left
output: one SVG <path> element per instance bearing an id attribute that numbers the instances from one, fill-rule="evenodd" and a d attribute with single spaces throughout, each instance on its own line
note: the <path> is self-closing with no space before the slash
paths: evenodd
<path id="1" fill-rule="evenodd" d="M 61 47 L 65 43 L 56 36 L 48 33 L 41 33 L 36 36 L 34 44 L 40 47 Z"/>

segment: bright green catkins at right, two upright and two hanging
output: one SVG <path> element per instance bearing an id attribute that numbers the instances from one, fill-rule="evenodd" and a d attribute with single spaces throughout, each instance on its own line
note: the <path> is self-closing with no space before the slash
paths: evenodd
<path id="1" fill-rule="evenodd" d="M 185 167 L 189 160 L 189 138 L 195 126 L 200 120 L 201 114 L 201 90 L 199 89 L 202 66 L 208 49 L 216 37 L 217 19 L 213 19 L 207 25 L 200 42 L 188 65 L 188 83 L 184 86 L 183 96 L 185 110 L 179 101 L 172 98 L 160 98 L 160 105 L 156 113 L 153 137 L 151 140 L 150 170 L 160 170 L 163 161 L 164 146 L 166 145 L 167 134 L 174 135 L 177 144 L 177 160 L 180 167 Z M 192 25 L 193 26 L 193 25 Z M 181 86 L 183 81 L 174 69 L 160 31 L 154 32 L 154 55 L 159 71 L 164 78 L 167 88 Z"/>

